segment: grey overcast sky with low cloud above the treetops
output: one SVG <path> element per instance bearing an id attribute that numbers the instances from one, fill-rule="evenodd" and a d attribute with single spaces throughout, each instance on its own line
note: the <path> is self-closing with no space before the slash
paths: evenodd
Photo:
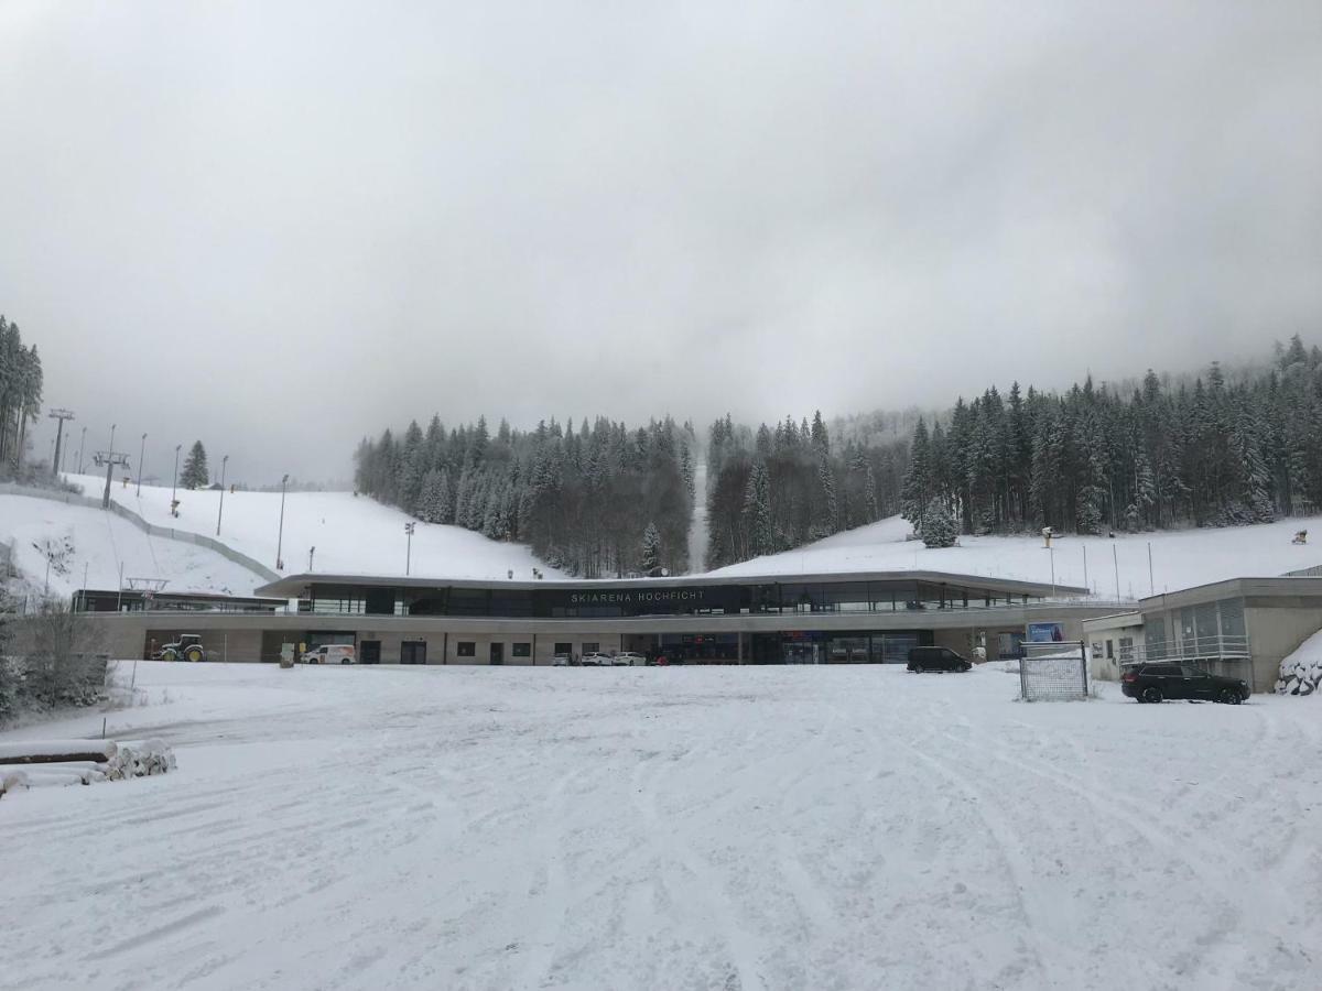
<path id="1" fill-rule="evenodd" d="M 0 312 L 167 477 L 1322 344 L 1317 0 L 4 0 L 0 148 Z"/>

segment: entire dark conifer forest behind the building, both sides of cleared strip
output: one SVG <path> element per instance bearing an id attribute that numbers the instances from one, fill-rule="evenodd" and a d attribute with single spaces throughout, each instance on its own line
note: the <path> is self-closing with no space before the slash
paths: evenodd
<path id="1" fill-rule="evenodd" d="M 730 415 L 631 429 L 598 418 L 521 432 L 432 418 L 364 440 L 360 492 L 419 519 L 531 544 L 587 577 L 718 568 L 902 514 L 944 546 L 958 534 L 1051 526 L 1105 532 L 1269 522 L 1322 506 L 1322 351 L 1296 336 L 1270 362 L 1066 392 L 1011 383 L 932 416 Z M 710 526 L 689 562 L 694 498 Z M 931 532 L 924 532 L 924 531 Z"/>

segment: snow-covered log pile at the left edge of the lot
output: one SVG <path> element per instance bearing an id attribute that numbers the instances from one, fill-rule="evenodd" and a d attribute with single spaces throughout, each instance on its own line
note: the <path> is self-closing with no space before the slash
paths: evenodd
<path id="1" fill-rule="evenodd" d="M 16 788 L 90 785 L 165 774 L 175 766 L 175 752 L 160 740 L 5 743 L 0 744 L 0 795 Z"/>

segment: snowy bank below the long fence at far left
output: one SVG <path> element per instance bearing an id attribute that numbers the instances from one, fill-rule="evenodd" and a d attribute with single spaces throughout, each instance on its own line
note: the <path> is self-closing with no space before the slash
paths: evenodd
<path id="1" fill-rule="evenodd" d="M 118 588 L 120 563 L 126 579 L 165 577 L 171 592 L 253 595 L 266 581 L 215 551 L 149 536 L 112 513 L 0 494 L 0 542 L 11 540 L 24 575 L 19 595 L 44 593 L 48 552 L 50 595 L 61 599 L 79 588 Z"/>

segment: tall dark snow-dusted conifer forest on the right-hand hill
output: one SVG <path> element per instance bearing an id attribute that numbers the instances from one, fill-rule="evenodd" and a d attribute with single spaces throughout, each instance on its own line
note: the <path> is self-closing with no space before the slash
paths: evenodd
<path id="1" fill-rule="evenodd" d="M 1317 511 L 1322 351 L 1294 336 L 1233 382 L 1215 362 L 1192 385 L 1149 370 L 1128 396 L 1089 378 L 1064 395 L 1015 383 L 961 398 L 945 424 L 915 428 L 900 505 L 919 534 L 941 517 L 965 534 L 1092 534 Z"/>

